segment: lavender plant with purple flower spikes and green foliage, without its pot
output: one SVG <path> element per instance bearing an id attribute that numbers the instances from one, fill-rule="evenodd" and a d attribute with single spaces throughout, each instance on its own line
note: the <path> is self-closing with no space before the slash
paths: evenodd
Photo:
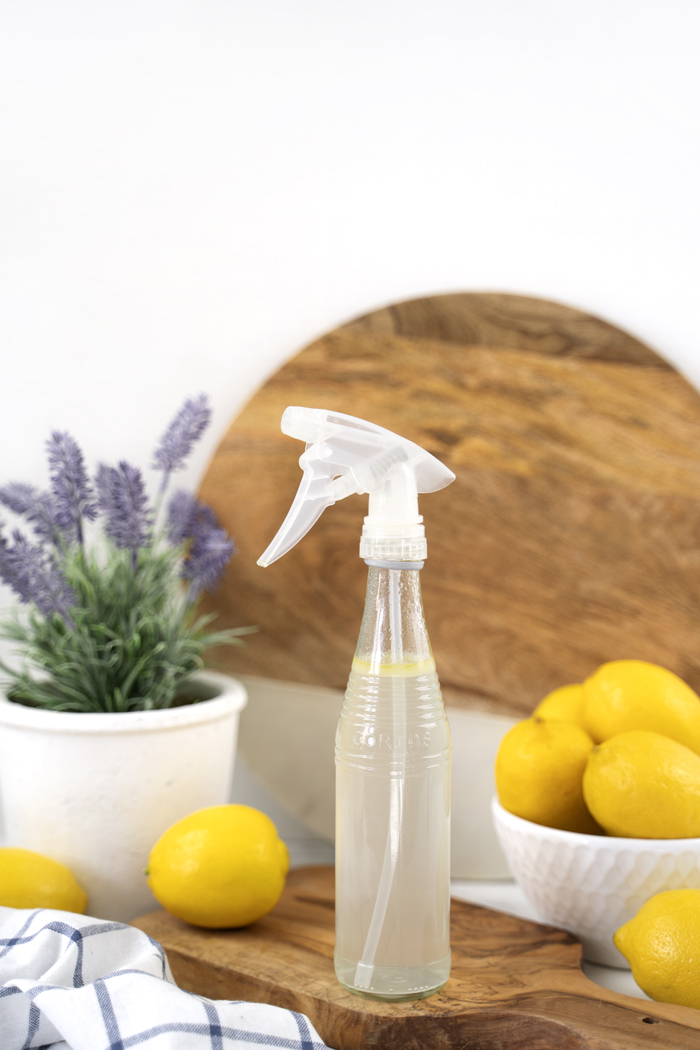
<path id="1" fill-rule="evenodd" d="M 0 525 L 0 579 L 27 607 L 0 624 L 23 656 L 19 670 L 0 662 L 13 699 L 56 711 L 167 708 L 207 649 L 241 644 L 251 628 L 211 631 L 213 617 L 196 612 L 235 553 L 233 540 L 185 490 L 164 506 L 171 475 L 210 419 L 200 396 L 166 429 L 153 459 L 155 506 L 137 467 L 101 464 L 91 481 L 77 442 L 58 432 L 46 443 L 47 491 L 0 487 L 0 504 L 34 532 L 33 541 L 16 528 L 8 539 Z M 86 537 L 93 521 L 101 532 Z"/>

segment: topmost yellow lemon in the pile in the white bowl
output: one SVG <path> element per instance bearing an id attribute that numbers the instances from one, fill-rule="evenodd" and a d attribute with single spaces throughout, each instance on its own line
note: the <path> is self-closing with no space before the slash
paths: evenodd
<path id="1" fill-rule="evenodd" d="M 646 729 L 700 755 L 700 697 L 673 671 L 641 659 L 603 664 L 584 682 L 584 719 L 596 743 Z"/>

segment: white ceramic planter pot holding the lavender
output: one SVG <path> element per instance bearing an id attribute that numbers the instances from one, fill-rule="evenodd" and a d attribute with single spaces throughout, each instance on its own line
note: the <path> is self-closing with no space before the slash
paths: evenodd
<path id="1" fill-rule="evenodd" d="M 126 714 L 0 698 L 4 841 L 66 864 L 90 915 L 128 922 L 157 907 L 144 876 L 154 842 L 187 814 L 229 801 L 246 690 L 210 671 L 189 688 L 210 698 Z"/>

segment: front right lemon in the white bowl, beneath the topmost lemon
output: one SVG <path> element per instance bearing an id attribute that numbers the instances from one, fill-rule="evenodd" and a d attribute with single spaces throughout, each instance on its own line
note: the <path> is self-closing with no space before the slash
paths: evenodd
<path id="1" fill-rule="evenodd" d="M 609 835 L 700 836 L 700 757 L 660 733 L 620 733 L 591 752 L 584 797 Z"/>

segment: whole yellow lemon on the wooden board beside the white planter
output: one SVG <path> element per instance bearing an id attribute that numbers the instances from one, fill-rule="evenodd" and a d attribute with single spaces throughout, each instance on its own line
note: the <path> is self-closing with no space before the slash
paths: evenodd
<path id="1" fill-rule="evenodd" d="M 212 805 L 169 827 L 151 850 L 156 900 L 194 926 L 248 926 L 284 888 L 287 846 L 270 817 L 249 805 Z"/>

